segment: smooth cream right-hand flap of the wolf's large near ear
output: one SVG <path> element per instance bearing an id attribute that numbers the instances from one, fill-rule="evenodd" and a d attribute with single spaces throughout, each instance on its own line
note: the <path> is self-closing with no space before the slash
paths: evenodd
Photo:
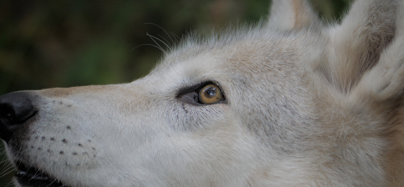
<path id="1" fill-rule="evenodd" d="M 404 1 L 397 4 L 394 38 L 377 64 L 364 74 L 351 99 L 371 96 L 384 101 L 402 96 L 404 90 Z"/>

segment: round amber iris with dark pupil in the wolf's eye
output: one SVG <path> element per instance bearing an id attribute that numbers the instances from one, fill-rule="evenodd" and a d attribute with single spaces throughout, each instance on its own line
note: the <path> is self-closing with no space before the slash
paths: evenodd
<path id="1" fill-rule="evenodd" d="M 213 104 L 223 99 L 222 90 L 215 84 L 208 84 L 200 89 L 198 100 L 201 104 Z"/>

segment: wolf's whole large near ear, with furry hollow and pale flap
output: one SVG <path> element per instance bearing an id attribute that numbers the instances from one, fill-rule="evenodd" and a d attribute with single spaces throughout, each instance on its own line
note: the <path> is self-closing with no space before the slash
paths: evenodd
<path id="1" fill-rule="evenodd" d="M 328 34 L 323 73 L 352 102 L 402 95 L 404 1 L 358 0 Z"/>

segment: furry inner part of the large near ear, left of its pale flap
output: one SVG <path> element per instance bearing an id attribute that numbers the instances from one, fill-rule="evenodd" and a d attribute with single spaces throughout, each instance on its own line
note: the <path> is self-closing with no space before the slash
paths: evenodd
<path id="1" fill-rule="evenodd" d="M 397 6 L 396 0 L 358 0 L 341 25 L 329 29 L 326 74 L 340 91 L 351 91 L 397 38 Z"/>

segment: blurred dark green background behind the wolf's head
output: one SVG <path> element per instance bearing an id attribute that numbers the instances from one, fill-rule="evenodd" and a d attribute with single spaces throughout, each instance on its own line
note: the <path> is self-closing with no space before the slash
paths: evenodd
<path id="1" fill-rule="evenodd" d="M 349 0 L 311 2 L 324 19 L 337 20 Z M 192 30 L 210 32 L 229 24 L 257 22 L 267 15 L 269 3 L 0 1 L 0 95 L 24 89 L 130 82 L 146 75 L 162 56 L 159 49 L 142 45 L 155 44 L 147 34 L 173 44 L 170 37 L 179 40 Z M 13 175 L 1 144 L 0 187 L 12 186 Z"/>

